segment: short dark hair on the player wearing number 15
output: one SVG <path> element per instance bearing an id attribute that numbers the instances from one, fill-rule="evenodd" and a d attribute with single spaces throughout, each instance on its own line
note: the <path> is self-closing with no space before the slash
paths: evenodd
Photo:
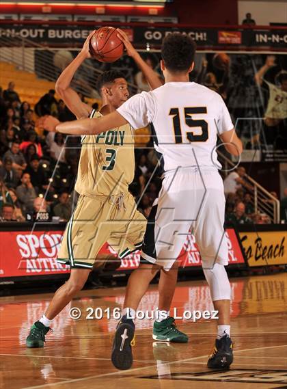
<path id="1" fill-rule="evenodd" d="M 196 44 L 190 36 L 173 32 L 163 39 L 161 56 L 165 67 L 171 72 L 189 70 L 194 61 Z"/>

